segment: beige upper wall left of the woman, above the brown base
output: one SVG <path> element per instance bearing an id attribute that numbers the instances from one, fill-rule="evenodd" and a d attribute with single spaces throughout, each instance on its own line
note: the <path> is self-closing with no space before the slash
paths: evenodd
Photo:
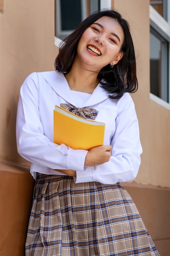
<path id="1" fill-rule="evenodd" d="M 26 76 L 54 69 L 54 0 L 5 0 L 0 31 L 0 161 L 27 164 L 16 150 L 16 108 Z"/>

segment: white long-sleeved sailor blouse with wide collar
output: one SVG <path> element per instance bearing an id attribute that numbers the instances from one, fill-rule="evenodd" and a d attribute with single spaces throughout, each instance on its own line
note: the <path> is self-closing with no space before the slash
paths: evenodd
<path id="1" fill-rule="evenodd" d="M 83 93 L 82 93 L 83 95 Z M 112 145 L 109 162 L 84 166 L 87 150 L 72 149 L 53 142 L 53 110 L 55 105 L 76 106 L 64 74 L 56 71 L 30 74 L 20 89 L 16 139 L 18 153 L 31 162 L 31 175 L 61 175 L 54 169 L 76 171 L 75 183 L 100 182 L 115 184 L 133 180 L 142 153 L 135 106 L 129 93 L 121 99 L 110 99 L 100 84 L 79 108 L 98 110 L 95 121 L 105 123 L 104 145 Z M 69 132 L 69 127 L 68 127 Z"/>

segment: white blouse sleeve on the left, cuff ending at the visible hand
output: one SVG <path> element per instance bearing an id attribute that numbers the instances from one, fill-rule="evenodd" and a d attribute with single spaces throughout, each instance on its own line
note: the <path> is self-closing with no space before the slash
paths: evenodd
<path id="1" fill-rule="evenodd" d="M 51 169 L 83 171 L 86 150 L 73 150 L 64 144 L 53 143 L 53 109 L 57 95 L 52 99 L 54 91 L 48 86 L 46 92 L 47 85 L 42 85 L 39 79 L 37 73 L 31 74 L 20 90 L 16 121 L 18 153 L 32 163 Z M 42 101 L 44 98 L 49 106 Z"/>

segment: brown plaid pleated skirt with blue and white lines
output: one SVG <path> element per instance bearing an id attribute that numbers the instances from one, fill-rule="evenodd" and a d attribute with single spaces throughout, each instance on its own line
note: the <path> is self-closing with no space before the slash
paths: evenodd
<path id="1" fill-rule="evenodd" d="M 159 256 L 132 198 L 117 183 L 37 174 L 26 256 Z"/>

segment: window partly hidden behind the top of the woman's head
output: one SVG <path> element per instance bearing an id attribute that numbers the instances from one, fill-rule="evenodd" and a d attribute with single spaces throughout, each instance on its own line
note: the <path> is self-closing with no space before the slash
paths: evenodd
<path id="1" fill-rule="evenodd" d="M 55 45 L 91 13 L 111 7 L 111 0 L 55 0 Z"/>

